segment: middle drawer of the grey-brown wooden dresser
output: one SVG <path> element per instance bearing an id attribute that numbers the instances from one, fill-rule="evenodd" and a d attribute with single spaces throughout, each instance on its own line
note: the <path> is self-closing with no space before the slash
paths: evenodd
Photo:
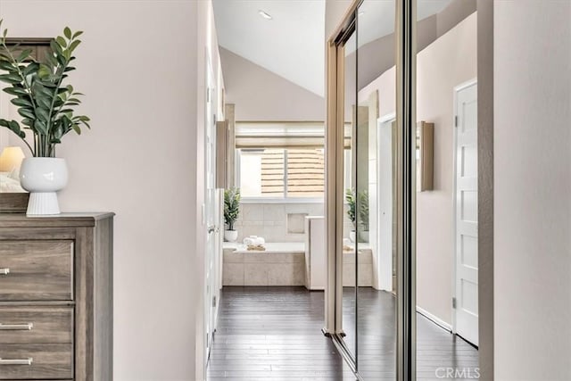
<path id="1" fill-rule="evenodd" d="M 72 307 L 0 307 L 0 345 L 73 343 Z"/>

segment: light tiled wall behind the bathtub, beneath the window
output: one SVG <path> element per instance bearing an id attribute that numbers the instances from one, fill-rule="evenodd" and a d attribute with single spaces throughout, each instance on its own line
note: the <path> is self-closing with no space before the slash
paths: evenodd
<path id="1" fill-rule="evenodd" d="M 235 224 L 238 242 L 246 236 L 263 236 L 266 242 L 302 243 L 305 239 L 303 217 L 323 216 L 323 213 L 323 203 L 243 202 Z"/>

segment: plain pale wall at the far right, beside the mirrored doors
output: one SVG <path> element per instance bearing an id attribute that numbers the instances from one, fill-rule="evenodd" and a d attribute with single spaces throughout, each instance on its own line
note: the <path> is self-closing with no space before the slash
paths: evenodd
<path id="1" fill-rule="evenodd" d="M 571 2 L 494 5 L 497 380 L 569 380 Z"/>

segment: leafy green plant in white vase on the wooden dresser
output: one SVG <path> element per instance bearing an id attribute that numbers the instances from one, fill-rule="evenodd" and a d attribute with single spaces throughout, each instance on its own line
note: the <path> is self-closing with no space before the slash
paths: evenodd
<path id="1" fill-rule="evenodd" d="M 0 28 L 2 21 L 0 21 Z M 12 95 L 22 119 L 0 119 L 0 127 L 8 128 L 28 146 L 30 158 L 21 164 L 21 186 L 29 191 L 29 215 L 59 214 L 56 192 L 67 184 L 68 172 L 63 159 L 55 157 L 55 146 L 70 131 L 81 133 L 89 128 L 89 118 L 76 115 L 74 107 L 81 104 L 80 93 L 65 85 L 70 71 L 75 70 L 74 50 L 81 40 L 81 31 L 63 29 L 63 36 L 50 42 L 45 60 L 32 57 L 30 49 L 8 46 L 4 29 L 0 37 L 0 81 L 7 84 L 3 91 Z M 32 139 L 27 139 L 31 133 Z"/>

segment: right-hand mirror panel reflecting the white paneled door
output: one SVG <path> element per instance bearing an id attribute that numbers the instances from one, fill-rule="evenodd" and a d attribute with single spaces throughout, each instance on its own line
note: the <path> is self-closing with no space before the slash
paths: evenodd
<path id="1" fill-rule="evenodd" d="M 416 121 L 434 126 L 434 165 L 418 157 L 419 178 L 433 178 L 416 193 L 417 377 L 447 366 L 476 378 L 478 14 L 476 2 L 458 0 L 418 0 L 417 8 Z"/>

